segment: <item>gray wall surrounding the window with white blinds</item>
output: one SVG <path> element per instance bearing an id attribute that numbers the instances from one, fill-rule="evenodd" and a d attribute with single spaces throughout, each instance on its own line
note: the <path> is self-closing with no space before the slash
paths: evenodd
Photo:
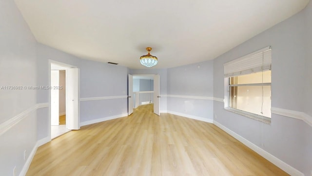
<path id="1" fill-rule="evenodd" d="M 272 46 L 272 107 L 304 111 L 311 106 L 311 85 L 306 76 L 311 53 L 306 38 L 311 39 L 311 2 L 304 11 L 292 16 L 214 60 L 214 96 L 224 98 L 223 64 Z M 310 14 L 306 16 L 306 14 Z M 307 23 L 309 21 L 309 23 Z M 307 55 L 308 54 L 308 55 Z M 306 70 L 305 70 L 306 68 Z M 311 83 L 311 81 L 309 81 Z M 309 87 L 309 88 L 305 88 Z M 304 91 L 305 90 L 305 91 Z M 310 90 L 310 91 L 308 91 Z M 306 101 L 304 97 L 309 97 Z M 308 108 L 306 108 L 308 109 Z M 311 109 L 311 107 L 310 107 Z M 309 112 L 306 110 L 306 112 Z M 272 124 L 264 124 L 224 110 L 224 104 L 214 103 L 214 120 L 273 154 L 309 176 L 312 169 L 312 128 L 305 122 L 272 114 Z M 311 114 L 311 111 L 309 112 Z M 309 148 L 309 150 L 307 150 Z"/>

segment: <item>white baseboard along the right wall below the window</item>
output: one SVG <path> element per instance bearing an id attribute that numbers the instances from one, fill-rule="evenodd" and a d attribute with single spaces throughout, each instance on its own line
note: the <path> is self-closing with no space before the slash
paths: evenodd
<path id="1" fill-rule="evenodd" d="M 240 136 L 239 134 L 231 131 L 230 129 L 226 128 L 225 126 L 221 125 L 220 123 L 214 121 L 214 124 L 222 129 L 223 131 L 227 132 L 231 136 L 233 136 L 235 139 L 252 149 L 257 154 L 260 154 L 262 157 L 266 158 L 270 162 L 272 162 L 274 165 L 285 171 L 291 176 L 304 176 L 303 173 L 296 170 L 289 164 L 285 163 L 284 161 L 278 159 L 277 157 L 273 156 L 272 154 L 268 153 L 267 151 L 261 149 L 260 147 L 256 146 L 254 143 L 250 142 L 249 140 L 245 139 L 244 137 Z"/>

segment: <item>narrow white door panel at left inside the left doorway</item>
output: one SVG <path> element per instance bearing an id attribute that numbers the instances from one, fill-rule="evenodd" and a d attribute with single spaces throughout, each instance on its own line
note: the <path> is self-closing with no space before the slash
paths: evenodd
<path id="1" fill-rule="evenodd" d="M 59 125 L 59 70 L 51 70 L 51 125 Z"/>

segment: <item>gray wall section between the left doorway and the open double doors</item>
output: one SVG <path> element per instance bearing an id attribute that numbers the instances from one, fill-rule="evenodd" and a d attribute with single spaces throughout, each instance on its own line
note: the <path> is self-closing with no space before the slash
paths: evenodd
<path id="1" fill-rule="evenodd" d="M 81 60 L 80 98 L 127 95 L 127 68 Z M 128 112 L 127 98 L 82 101 L 80 121 L 86 122 Z"/>

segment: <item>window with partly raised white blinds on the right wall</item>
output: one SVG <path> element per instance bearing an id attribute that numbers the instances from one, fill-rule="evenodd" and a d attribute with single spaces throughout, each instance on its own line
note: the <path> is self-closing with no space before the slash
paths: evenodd
<path id="1" fill-rule="evenodd" d="M 271 122 L 271 47 L 224 64 L 225 108 Z"/>

